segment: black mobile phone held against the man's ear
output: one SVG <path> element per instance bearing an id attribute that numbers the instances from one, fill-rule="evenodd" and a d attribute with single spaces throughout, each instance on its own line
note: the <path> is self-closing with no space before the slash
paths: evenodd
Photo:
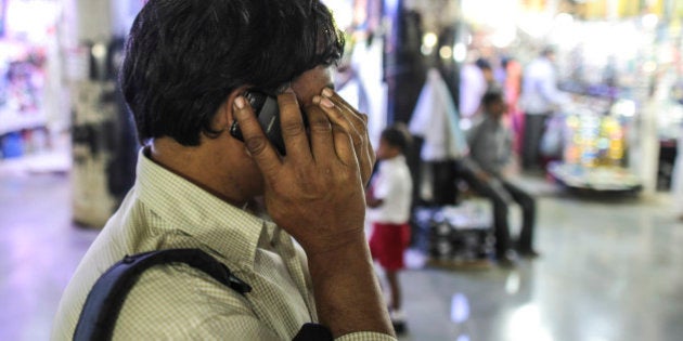
<path id="1" fill-rule="evenodd" d="M 275 146 L 281 155 L 285 155 L 284 140 L 282 139 L 282 130 L 280 128 L 280 107 L 278 106 L 278 99 L 258 90 L 248 90 L 244 93 L 244 97 L 249 101 L 249 104 L 258 117 L 258 121 L 268 136 L 268 140 Z M 230 127 L 230 134 L 244 141 L 240 124 L 235 120 Z"/>

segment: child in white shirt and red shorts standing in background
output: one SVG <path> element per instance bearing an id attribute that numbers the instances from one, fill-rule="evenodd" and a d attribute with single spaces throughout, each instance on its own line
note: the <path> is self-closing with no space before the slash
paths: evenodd
<path id="1" fill-rule="evenodd" d="M 405 162 L 410 143 L 410 133 L 401 123 L 382 132 L 376 152 L 378 169 L 365 199 L 373 227 L 370 251 L 384 268 L 390 293 L 389 317 L 399 333 L 405 329 L 398 274 L 404 267 L 403 253 L 410 244 L 413 183 Z"/>

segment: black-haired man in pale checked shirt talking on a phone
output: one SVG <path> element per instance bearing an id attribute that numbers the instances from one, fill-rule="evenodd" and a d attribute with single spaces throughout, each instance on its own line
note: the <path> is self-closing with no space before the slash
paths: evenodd
<path id="1" fill-rule="evenodd" d="M 343 48 L 318 0 L 145 4 L 120 73 L 143 144 L 137 181 L 67 286 L 54 340 L 73 338 L 109 266 L 175 248 L 205 251 L 252 290 L 152 267 L 113 339 L 292 340 L 314 323 L 337 340 L 395 340 L 363 233 L 366 117 L 330 86 Z M 245 100 L 252 90 L 276 95 L 286 154 Z"/>

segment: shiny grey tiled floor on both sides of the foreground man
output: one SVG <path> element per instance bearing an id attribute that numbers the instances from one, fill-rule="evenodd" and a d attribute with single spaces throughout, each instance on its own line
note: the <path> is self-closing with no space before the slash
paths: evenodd
<path id="1" fill-rule="evenodd" d="M 68 173 L 26 169 L 0 162 L 0 340 L 49 339 L 61 290 L 96 235 L 72 224 Z M 682 340 L 683 224 L 670 197 L 547 193 L 540 259 L 515 270 L 402 274 L 402 340 Z"/>

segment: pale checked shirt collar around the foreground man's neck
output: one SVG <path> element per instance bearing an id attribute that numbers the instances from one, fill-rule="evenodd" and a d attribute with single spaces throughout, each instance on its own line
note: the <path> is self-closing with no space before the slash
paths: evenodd
<path id="1" fill-rule="evenodd" d="M 140 200 L 167 228 L 179 229 L 219 254 L 253 268 L 261 234 L 272 222 L 236 208 L 184 178 L 151 160 L 142 148 L 138 156 L 136 187 Z"/>

